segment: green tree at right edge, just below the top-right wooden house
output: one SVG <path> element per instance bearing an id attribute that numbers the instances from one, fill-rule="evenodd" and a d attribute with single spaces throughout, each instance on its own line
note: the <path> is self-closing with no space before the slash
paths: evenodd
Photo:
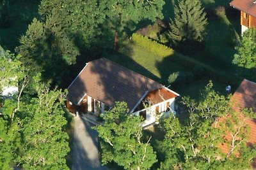
<path id="1" fill-rule="evenodd" d="M 256 29 L 251 28 L 243 32 L 239 45 L 236 46 L 237 54 L 233 63 L 248 69 L 256 68 Z"/>

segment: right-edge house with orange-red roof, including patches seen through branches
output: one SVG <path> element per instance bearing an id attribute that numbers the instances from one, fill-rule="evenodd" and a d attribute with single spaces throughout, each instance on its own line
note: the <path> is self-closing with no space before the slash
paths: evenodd
<path id="1" fill-rule="evenodd" d="M 234 105 L 232 106 L 234 106 L 234 109 L 237 111 L 243 108 L 252 108 L 253 112 L 256 112 L 256 83 L 244 79 L 231 100 L 234 101 Z M 221 119 L 223 120 L 223 117 L 221 117 Z M 248 119 L 246 120 L 246 124 L 250 126 L 250 138 L 247 141 L 247 145 L 252 146 L 252 144 L 256 143 L 256 119 Z M 224 138 L 228 141 L 232 139 L 230 134 L 225 135 Z M 223 152 L 228 153 L 227 143 L 222 143 L 219 147 Z M 252 163 L 252 167 L 253 169 L 256 169 L 256 156 Z"/>

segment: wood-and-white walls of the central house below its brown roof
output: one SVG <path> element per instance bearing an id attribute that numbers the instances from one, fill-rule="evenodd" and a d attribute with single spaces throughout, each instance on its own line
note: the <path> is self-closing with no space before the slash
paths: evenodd
<path id="1" fill-rule="evenodd" d="M 171 112 L 175 113 L 174 102 L 177 96 L 179 96 L 179 94 L 173 94 L 171 90 L 169 91 L 164 88 L 153 90 L 148 92 L 147 96 L 145 96 L 136 109 L 132 111 L 132 114 L 142 117 L 142 127 L 152 125 L 156 122 L 156 117 L 166 117 Z M 78 105 L 67 101 L 66 106 L 72 113 L 92 113 L 95 116 L 99 116 L 100 113 L 111 109 L 111 106 L 88 95 L 84 95 Z"/>

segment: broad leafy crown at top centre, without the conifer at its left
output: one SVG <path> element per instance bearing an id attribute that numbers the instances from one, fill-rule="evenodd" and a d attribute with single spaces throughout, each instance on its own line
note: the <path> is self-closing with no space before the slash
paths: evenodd
<path id="1" fill-rule="evenodd" d="M 87 47 L 100 43 L 101 48 L 113 47 L 114 40 L 126 38 L 128 31 L 136 29 L 141 20 L 156 21 L 163 18 L 164 1 L 90 1 L 44 0 L 39 13 L 47 16 L 58 12 L 58 20 L 64 31 L 78 36 L 81 45 Z M 106 8 L 107 7 L 107 8 Z M 95 50 L 95 52 L 97 52 Z"/>

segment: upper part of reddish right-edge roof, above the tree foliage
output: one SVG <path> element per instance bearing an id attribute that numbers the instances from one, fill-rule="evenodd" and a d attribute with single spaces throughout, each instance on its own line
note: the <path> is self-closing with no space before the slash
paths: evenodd
<path id="1" fill-rule="evenodd" d="M 256 83 L 244 79 L 232 96 L 236 106 L 240 108 L 252 108 L 256 112 Z"/>

